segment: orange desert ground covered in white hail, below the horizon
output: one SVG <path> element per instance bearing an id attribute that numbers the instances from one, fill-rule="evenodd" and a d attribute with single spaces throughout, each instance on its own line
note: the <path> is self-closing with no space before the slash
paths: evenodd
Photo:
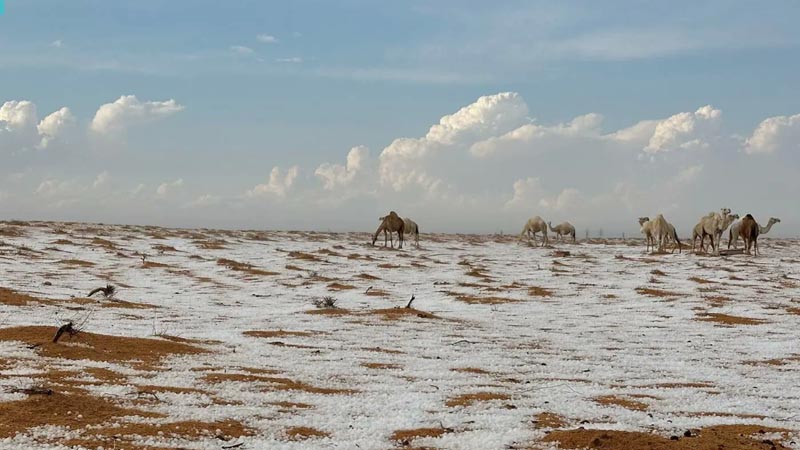
<path id="1" fill-rule="evenodd" d="M 800 449 L 796 240 L 370 240 L 1 223 L 0 449 Z"/>

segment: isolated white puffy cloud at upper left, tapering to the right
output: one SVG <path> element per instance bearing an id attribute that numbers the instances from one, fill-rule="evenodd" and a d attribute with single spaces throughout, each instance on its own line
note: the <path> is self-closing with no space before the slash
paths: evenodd
<path id="1" fill-rule="evenodd" d="M 171 116 L 183 109 L 173 99 L 143 102 L 135 95 L 123 95 L 113 103 L 100 106 L 89 129 L 100 135 L 112 136 L 125 132 L 131 126 Z"/>

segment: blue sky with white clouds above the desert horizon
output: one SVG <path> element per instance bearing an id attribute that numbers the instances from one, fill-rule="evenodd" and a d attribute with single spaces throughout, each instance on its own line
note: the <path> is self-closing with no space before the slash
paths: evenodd
<path id="1" fill-rule="evenodd" d="M 800 233 L 794 1 L 5 0 L 0 218 Z"/>

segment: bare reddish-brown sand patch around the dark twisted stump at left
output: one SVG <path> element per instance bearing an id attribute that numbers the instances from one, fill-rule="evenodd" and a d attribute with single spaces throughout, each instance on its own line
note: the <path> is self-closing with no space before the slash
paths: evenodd
<path id="1" fill-rule="evenodd" d="M 52 358 L 113 363 L 137 363 L 154 366 L 163 358 L 172 355 L 192 355 L 206 351 L 185 343 L 162 339 L 109 336 L 81 331 L 74 336 L 65 336 L 58 343 L 52 339 L 56 327 L 21 326 L 0 329 L 0 341 L 20 341 L 36 346 L 36 351 Z"/>

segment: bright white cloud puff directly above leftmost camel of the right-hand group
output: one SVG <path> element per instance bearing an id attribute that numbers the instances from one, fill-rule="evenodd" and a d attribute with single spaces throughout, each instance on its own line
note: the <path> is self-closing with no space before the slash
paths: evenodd
<path id="1" fill-rule="evenodd" d="M 713 128 L 721 115 L 722 111 L 706 105 L 694 113 L 682 112 L 664 119 L 656 125 L 643 151 L 656 154 L 679 148 L 705 148 L 708 146 L 705 139 L 710 134 L 709 131 L 715 131 Z"/>

